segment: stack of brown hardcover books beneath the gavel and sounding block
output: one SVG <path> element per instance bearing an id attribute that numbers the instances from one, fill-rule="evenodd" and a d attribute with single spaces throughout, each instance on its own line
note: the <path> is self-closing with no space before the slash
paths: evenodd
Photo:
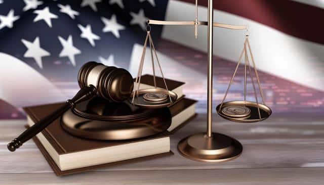
<path id="1" fill-rule="evenodd" d="M 195 117 L 196 101 L 184 97 L 183 82 L 166 79 L 168 88 L 178 95 L 177 102 L 170 106 L 172 123 L 164 133 L 126 141 L 98 141 L 75 137 L 65 132 L 60 119 L 55 120 L 34 138 L 37 147 L 56 173 L 66 175 L 107 167 L 126 162 L 148 160 L 171 155 L 170 135 Z M 165 88 L 162 78 L 156 78 L 159 88 Z M 143 75 L 141 88 L 152 88 L 153 77 Z M 62 104 L 50 104 L 24 108 L 28 126 L 32 126 Z"/>

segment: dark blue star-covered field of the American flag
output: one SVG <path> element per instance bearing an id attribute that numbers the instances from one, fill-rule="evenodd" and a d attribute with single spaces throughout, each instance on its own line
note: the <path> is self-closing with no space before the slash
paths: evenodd
<path id="1" fill-rule="evenodd" d="M 128 67 L 133 45 L 143 43 L 145 21 L 165 18 L 167 1 L 4 1 L 0 51 L 45 77 L 75 81 L 87 61 Z M 154 38 L 161 27 L 154 27 Z"/>

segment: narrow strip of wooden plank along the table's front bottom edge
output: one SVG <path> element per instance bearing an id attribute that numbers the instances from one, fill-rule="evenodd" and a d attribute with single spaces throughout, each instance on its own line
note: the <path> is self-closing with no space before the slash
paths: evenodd
<path id="1" fill-rule="evenodd" d="M 0 174 L 0 184 L 322 184 L 324 168 L 142 170 Z"/>

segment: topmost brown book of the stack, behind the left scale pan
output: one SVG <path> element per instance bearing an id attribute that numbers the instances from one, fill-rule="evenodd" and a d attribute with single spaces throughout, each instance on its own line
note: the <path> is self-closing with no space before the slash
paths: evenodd
<path id="1" fill-rule="evenodd" d="M 183 96 L 182 90 L 183 90 L 183 85 L 185 83 L 181 82 L 181 81 L 171 80 L 168 78 L 165 78 L 165 80 L 166 80 L 168 89 L 174 91 L 178 95 L 178 99 L 181 98 Z M 135 79 L 134 79 L 134 81 L 135 81 Z M 156 87 L 166 88 L 163 78 L 156 76 L 155 81 L 156 81 Z M 134 88 L 135 87 L 136 87 L 136 85 L 134 86 Z M 153 87 L 154 87 L 153 76 L 149 75 L 149 74 L 142 75 L 140 89 L 153 88 Z"/>

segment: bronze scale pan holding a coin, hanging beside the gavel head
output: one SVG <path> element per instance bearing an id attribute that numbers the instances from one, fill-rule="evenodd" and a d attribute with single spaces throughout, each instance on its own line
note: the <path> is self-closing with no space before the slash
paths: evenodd
<path id="1" fill-rule="evenodd" d="M 133 101 L 133 95 L 135 98 Z M 136 95 L 138 93 L 138 96 Z M 170 100 L 170 97 L 171 100 Z M 148 88 L 134 91 L 131 95 L 130 102 L 138 107 L 147 109 L 163 108 L 172 105 L 178 96 L 173 91 L 159 88 Z"/>

